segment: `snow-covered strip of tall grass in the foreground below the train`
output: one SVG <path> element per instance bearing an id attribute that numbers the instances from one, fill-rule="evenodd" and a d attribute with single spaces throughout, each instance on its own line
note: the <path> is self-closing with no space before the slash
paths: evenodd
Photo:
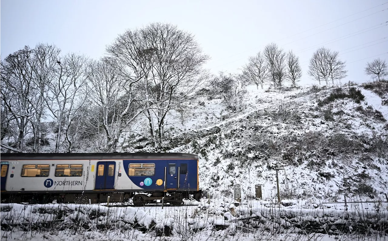
<path id="1" fill-rule="evenodd" d="M 388 210 L 374 205 L 282 205 L 226 198 L 198 206 L 0 205 L 0 235 L 10 240 L 363 240 L 388 236 Z M 334 235 L 332 238 L 330 235 Z M 164 239 L 163 239 L 164 240 Z"/>

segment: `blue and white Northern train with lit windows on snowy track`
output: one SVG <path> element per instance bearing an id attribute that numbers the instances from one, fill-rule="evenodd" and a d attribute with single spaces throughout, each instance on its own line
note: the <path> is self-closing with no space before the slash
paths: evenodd
<path id="1" fill-rule="evenodd" d="M 200 200 L 198 156 L 189 153 L 0 153 L 1 203 L 133 205 Z"/>

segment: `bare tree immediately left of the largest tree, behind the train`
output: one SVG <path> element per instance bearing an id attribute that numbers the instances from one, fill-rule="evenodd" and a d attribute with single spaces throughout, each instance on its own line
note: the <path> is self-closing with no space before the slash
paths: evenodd
<path id="1" fill-rule="evenodd" d="M 127 81 L 120 74 L 123 66 L 113 59 L 92 62 L 90 67 L 88 80 L 93 111 L 89 113 L 86 131 L 97 135 L 100 149 L 116 151 L 123 130 L 143 111 L 135 106 L 135 82 Z M 100 133 L 100 127 L 104 133 Z"/>

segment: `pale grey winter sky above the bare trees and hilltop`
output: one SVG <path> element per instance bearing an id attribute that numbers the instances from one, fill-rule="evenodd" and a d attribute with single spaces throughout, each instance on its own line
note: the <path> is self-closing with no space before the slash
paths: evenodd
<path id="1" fill-rule="evenodd" d="M 363 10 L 366 11 L 360 12 Z M 354 15 L 346 17 L 351 14 Z M 267 43 L 276 42 L 300 57 L 302 83 L 311 82 L 307 61 L 316 49 L 300 52 L 307 47 L 319 47 L 320 43 L 352 36 L 362 29 L 380 27 L 325 45 L 343 50 L 340 57 L 348 63 L 348 77 L 343 82 L 368 80 L 363 69 L 374 58 L 358 60 L 388 52 L 388 42 L 383 42 L 388 40 L 387 0 L 0 0 L 0 21 L 2 58 L 24 45 L 33 47 L 38 42 L 54 43 L 65 53 L 80 52 L 99 58 L 105 46 L 125 29 L 160 21 L 177 24 L 196 35 L 204 52 L 211 57 L 206 68 L 213 73 L 235 73 L 250 55 Z M 332 21 L 335 22 L 315 28 Z M 289 37 L 311 28 L 314 29 Z M 352 50 L 355 51 L 349 52 Z M 378 57 L 388 60 L 388 54 Z"/>

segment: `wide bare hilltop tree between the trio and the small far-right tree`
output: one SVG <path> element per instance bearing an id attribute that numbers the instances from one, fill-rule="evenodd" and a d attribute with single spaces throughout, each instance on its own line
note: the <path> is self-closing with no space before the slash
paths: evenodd
<path id="1" fill-rule="evenodd" d="M 338 52 L 331 51 L 325 47 L 317 49 L 308 66 L 308 75 L 314 80 L 325 80 L 326 85 L 329 80 L 334 84 L 334 80 L 341 80 L 346 77 L 345 62 L 338 59 Z"/>

